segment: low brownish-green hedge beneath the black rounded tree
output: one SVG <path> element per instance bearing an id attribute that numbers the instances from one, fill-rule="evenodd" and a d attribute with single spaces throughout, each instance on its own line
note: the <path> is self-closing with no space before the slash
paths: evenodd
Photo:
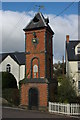
<path id="1" fill-rule="evenodd" d="M 19 90 L 16 88 L 3 89 L 2 97 L 13 105 L 20 104 Z"/>

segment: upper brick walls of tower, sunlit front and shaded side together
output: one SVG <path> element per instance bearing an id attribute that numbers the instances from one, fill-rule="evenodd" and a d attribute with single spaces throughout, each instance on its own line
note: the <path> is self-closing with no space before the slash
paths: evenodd
<path id="1" fill-rule="evenodd" d="M 36 37 L 38 38 L 38 44 L 36 47 L 32 43 L 32 39 L 34 38 L 33 32 L 36 33 Z M 45 33 L 47 34 L 46 36 Z M 31 60 L 33 58 L 39 59 L 38 66 L 39 66 L 40 78 L 45 78 L 45 73 L 47 73 L 47 78 L 50 78 L 50 74 L 51 74 L 51 78 L 53 78 L 53 56 L 52 56 L 53 51 L 52 51 L 51 33 L 46 31 L 46 29 L 41 29 L 41 30 L 28 31 L 25 33 L 25 35 L 26 35 L 26 52 L 29 53 L 26 54 L 26 75 L 28 75 L 27 78 L 31 78 Z M 45 38 L 46 38 L 46 43 L 45 43 Z M 46 58 L 45 58 L 45 50 L 47 50 Z M 45 70 L 45 65 L 47 66 L 46 70 Z"/>

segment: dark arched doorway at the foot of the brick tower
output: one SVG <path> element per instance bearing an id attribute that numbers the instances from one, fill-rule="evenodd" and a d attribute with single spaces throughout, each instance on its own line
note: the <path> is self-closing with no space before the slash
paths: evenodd
<path id="1" fill-rule="evenodd" d="M 36 88 L 29 89 L 29 109 L 38 109 L 38 90 Z"/>

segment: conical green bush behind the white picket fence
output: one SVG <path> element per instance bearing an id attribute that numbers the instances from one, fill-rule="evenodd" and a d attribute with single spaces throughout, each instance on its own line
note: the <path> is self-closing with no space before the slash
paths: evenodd
<path id="1" fill-rule="evenodd" d="M 64 76 L 64 78 L 60 79 L 60 85 L 58 86 L 58 101 L 73 103 L 76 102 L 76 97 L 77 95 L 72 85 L 71 79 Z"/>

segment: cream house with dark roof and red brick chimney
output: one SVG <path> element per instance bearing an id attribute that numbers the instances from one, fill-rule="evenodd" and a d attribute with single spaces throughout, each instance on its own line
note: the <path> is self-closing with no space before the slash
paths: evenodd
<path id="1" fill-rule="evenodd" d="M 80 95 L 80 41 L 69 40 L 69 35 L 66 36 L 66 74 Z"/>

